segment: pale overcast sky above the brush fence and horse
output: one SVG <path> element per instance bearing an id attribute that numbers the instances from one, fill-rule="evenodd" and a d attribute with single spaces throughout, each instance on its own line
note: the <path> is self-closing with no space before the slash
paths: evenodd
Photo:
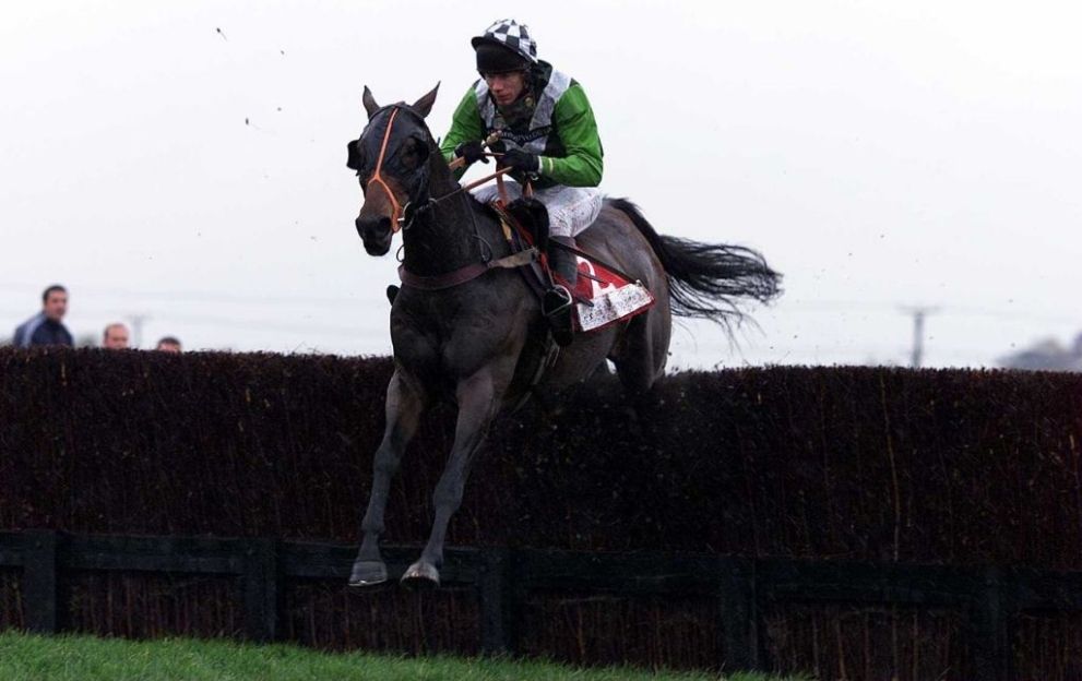
<path id="1" fill-rule="evenodd" d="M 76 334 L 388 354 L 391 256 L 365 254 L 345 144 L 469 37 L 526 23 L 576 77 L 603 189 L 675 236 L 761 250 L 785 294 L 676 367 L 992 366 L 1082 331 L 1082 5 L 1072 2 L 7 3 L 0 336 L 69 287 Z"/>

